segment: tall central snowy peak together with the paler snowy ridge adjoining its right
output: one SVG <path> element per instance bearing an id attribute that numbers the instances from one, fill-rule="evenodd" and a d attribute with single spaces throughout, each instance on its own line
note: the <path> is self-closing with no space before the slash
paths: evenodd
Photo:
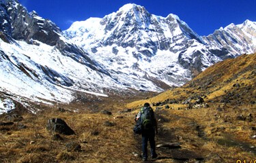
<path id="1" fill-rule="evenodd" d="M 215 62 L 255 52 L 255 22 L 246 22 L 200 37 L 174 14 L 163 18 L 127 4 L 104 18 L 74 22 L 64 33 L 118 80 L 165 88 L 184 84 Z"/>

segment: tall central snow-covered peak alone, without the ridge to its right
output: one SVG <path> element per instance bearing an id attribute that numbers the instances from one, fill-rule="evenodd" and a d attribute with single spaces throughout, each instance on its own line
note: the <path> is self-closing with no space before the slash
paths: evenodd
<path id="1" fill-rule="evenodd" d="M 147 75 L 170 86 L 190 79 L 190 71 L 184 69 L 187 63 L 180 52 L 188 49 L 188 43 L 193 46 L 201 42 L 201 37 L 177 16 L 154 16 L 134 4 L 124 5 L 102 19 L 74 22 L 64 32 L 117 79 L 133 75 L 139 82 Z M 177 60 L 181 64 L 176 64 Z"/>

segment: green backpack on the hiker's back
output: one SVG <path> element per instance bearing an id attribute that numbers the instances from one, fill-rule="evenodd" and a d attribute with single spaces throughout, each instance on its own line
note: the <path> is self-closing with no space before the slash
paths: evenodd
<path id="1" fill-rule="evenodd" d="M 154 128 L 154 111 L 151 107 L 141 108 L 141 124 L 143 130 Z"/>

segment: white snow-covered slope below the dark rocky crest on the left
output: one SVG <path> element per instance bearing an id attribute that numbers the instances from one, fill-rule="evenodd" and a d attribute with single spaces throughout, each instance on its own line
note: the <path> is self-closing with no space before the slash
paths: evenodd
<path id="1" fill-rule="evenodd" d="M 0 43 L 0 50 L 3 52 L 0 59 L 0 90 L 2 91 L 8 90 L 16 95 L 22 94 L 33 101 L 45 99 L 69 102 L 74 98 L 73 94 L 76 90 L 107 96 L 94 91 L 117 86 L 110 77 L 102 77 L 69 56 L 63 56 L 55 47 L 44 43 L 34 46 L 24 41 L 9 44 L 1 39 Z M 59 77 L 50 79 L 46 70 L 52 70 L 51 73 L 56 73 Z M 65 88 L 67 80 L 70 81 L 70 86 Z"/>

